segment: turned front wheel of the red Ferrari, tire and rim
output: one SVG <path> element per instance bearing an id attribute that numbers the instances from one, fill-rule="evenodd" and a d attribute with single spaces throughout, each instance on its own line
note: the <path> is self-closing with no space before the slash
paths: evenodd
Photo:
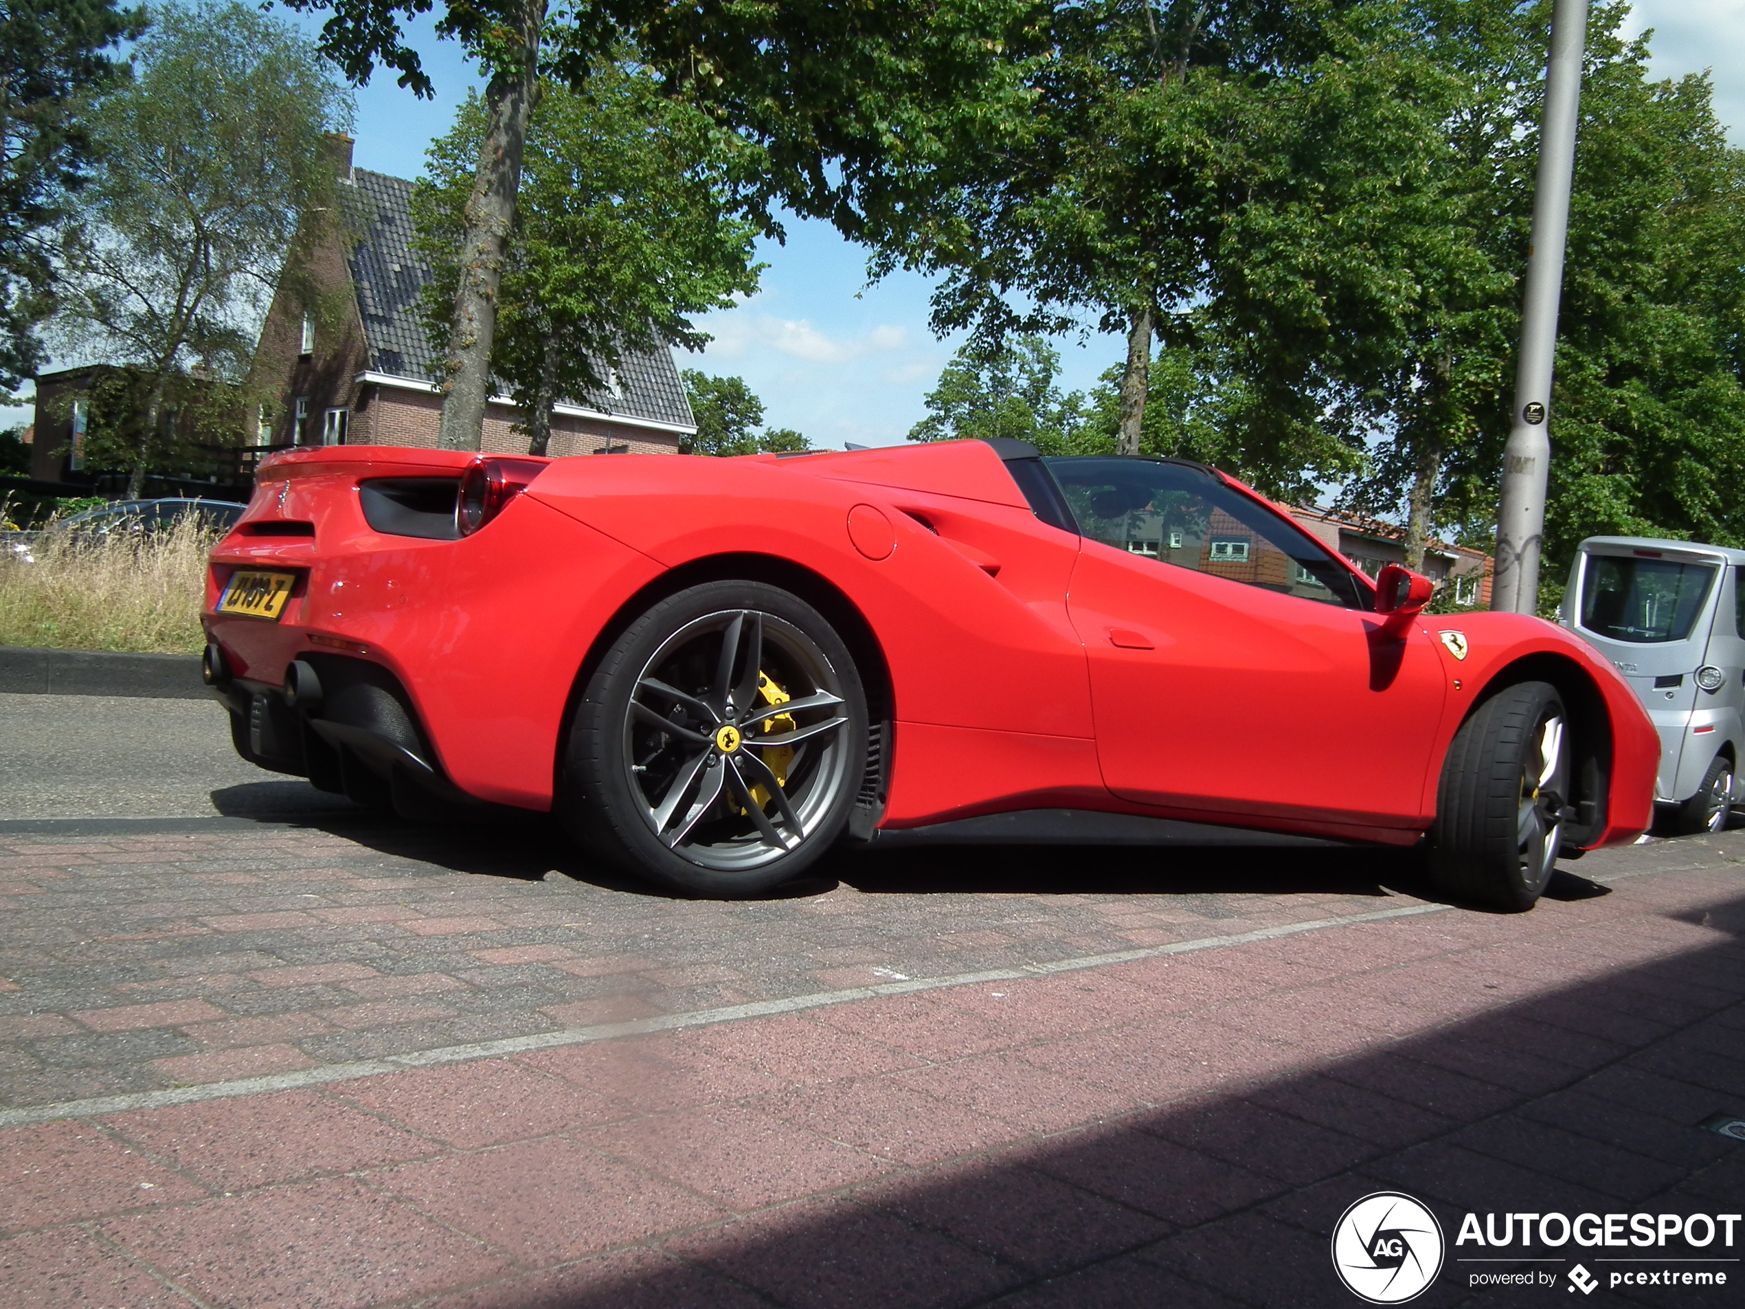
<path id="1" fill-rule="evenodd" d="M 1455 733 L 1429 843 L 1440 890 L 1509 913 L 1544 892 L 1570 813 L 1565 721 L 1555 686 L 1516 682 Z"/>

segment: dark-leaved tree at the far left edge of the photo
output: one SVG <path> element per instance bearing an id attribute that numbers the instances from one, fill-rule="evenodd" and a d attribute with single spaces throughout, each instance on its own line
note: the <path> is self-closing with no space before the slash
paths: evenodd
<path id="1" fill-rule="evenodd" d="M 0 394 L 42 363 L 37 326 L 54 302 L 49 232 L 91 162 L 75 106 L 126 77 L 106 51 L 143 28 L 145 9 L 115 0 L 0 9 Z"/>

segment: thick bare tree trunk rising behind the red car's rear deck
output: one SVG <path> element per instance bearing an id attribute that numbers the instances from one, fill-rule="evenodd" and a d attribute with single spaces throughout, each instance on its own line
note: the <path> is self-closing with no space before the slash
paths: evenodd
<path id="1" fill-rule="evenodd" d="M 448 358 L 443 361 L 447 380 L 436 438 L 443 450 L 483 447 L 490 346 L 497 333 L 497 288 L 503 284 L 503 255 L 515 223 L 515 192 L 522 185 L 527 122 L 539 99 L 539 31 L 544 10 L 544 0 L 524 0 L 517 12 L 520 59 L 499 68 L 485 87 L 485 141 L 478 152 L 473 194 L 466 202 L 461 284 L 448 326 Z"/>

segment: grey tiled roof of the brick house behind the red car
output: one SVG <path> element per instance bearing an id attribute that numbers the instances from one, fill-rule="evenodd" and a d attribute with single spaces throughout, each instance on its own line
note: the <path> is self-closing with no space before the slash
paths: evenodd
<path id="1" fill-rule="evenodd" d="M 436 360 L 421 318 L 424 283 L 431 272 L 412 250 L 412 183 L 361 168 L 352 176 L 366 201 L 363 239 L 351 253 L 351 279 L 358 288 L 370 368 L 435 382 Z M 618 394 L 602 391 L 569 403 L 602 414 L 695 426 L 679 370 L 667 347 L 626 353 L 618 370 Z"/>

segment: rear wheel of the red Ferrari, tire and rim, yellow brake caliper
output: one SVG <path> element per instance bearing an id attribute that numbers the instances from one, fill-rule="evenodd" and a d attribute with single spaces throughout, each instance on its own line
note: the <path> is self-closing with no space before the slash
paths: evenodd
<path id="1" fill-rule="evenodd" d="M 836 630 L 789 592 L 714 581 L 658 602 L 600 660 L 560 810 L 630 873 L 740 899 L 829 850 L 866 757 L 866 691 Z"/>

